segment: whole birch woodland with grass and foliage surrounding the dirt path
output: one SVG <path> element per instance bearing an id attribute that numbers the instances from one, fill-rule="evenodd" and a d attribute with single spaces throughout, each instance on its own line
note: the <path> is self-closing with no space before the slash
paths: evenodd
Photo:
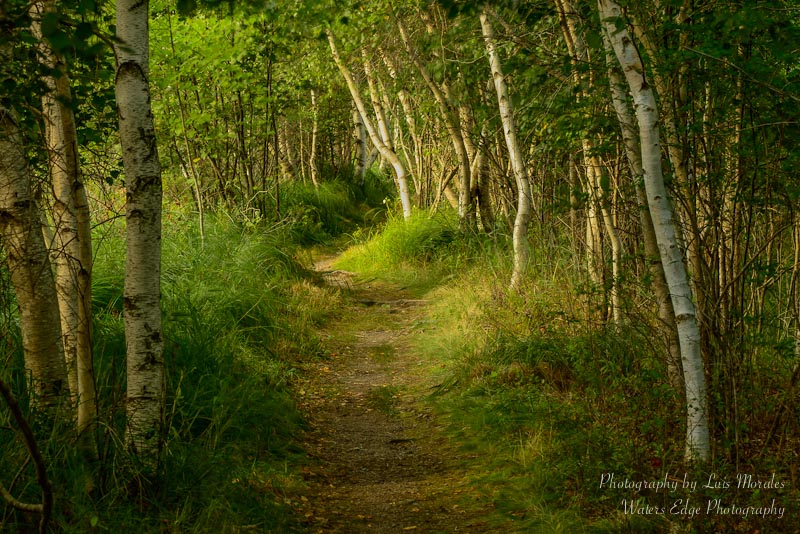
<path id="1" fill-rule="evenodd" d="M 335 241 L 440 302 L 520 531 L 796 528 L 799 47 L 791 0 L 0 2 L 0 526 L 295 524 Z"/>

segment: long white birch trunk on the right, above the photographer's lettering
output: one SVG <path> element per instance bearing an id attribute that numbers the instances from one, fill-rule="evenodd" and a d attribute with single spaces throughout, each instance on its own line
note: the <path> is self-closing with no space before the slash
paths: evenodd
<path id="1" fill-rule="evenodd" d="M 611 0 L 598 0 L 598 6 L 603 28 L 633 95 L 634 110 L 639 123 L 647 203 L 653 218 L 664 274 L 672 296 L 681 345 L 687 411 L 685 457 L 688 462 L 707 461 L 711 455 L 711 444 L 700 329 L 686 267 L 683 264 L 683 255 L 678 246 L 674 213 L 664 186 L 658 134 L 658 107 L 653 90 L 645 78 L 644 64 L 639 52 L 625 27 L 620 29 L 617 24 L 622 17 L 622 9 Z"/>

